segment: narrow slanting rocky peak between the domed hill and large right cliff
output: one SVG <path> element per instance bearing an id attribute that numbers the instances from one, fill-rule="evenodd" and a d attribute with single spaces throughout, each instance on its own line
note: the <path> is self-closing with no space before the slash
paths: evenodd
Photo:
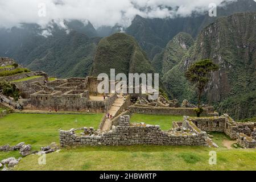
<path id="1" fill-rule="evenodd" d="M 161 75 L 166 74 L 175 65 L 180 63 L 185 53 L 193 45 L 194 41 L 191 35 L 180 32 L 167 44 L 164 50 L 157 54 L 152 61 L 156 71 Z"/>

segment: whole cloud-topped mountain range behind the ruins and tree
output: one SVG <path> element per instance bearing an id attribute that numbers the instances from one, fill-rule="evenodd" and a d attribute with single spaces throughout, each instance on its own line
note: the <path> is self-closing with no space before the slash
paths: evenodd
<path id="1" fill-rule="evenodd" d="M 130 0 L 126 3 L 113 9 L 119 12 L 126 5 L 130 7 Z M 93 22 L 79 17 L 54 19 L 44 26 L 23 22 L 2 27 L 0 57 L 11 57 L 24 67 L 57 77 L 97 76 L 109 73 L 110 68 L 126 74 L 156 72 L 170 98 L 193 103 L 196 93 L 184 77 L 185 69 L 196 60 L 212 59 L 221 69 L 214 73 L 204 103 L 236 119 L 255 116 L 256 2 L 223 2 L 217 6 L 217 17 L 210 17 L 205 8 L 188 8 L 187 13 L 178 14 L 178 7 L 174 16 L 174 9 L 163 6 L 158 10 L 158 2 L 154 3 L 147 5 L 152 11 L 146 15 L 146 7 L 137 15 L 123 14 L 123 22 L 118 14 L 105 24 L 107 16 L 100 20 L 92 17 Z M 126 20 L 130 22 L 127 27 Z M 100 26 L 93 26 L 96 22 Z"/>

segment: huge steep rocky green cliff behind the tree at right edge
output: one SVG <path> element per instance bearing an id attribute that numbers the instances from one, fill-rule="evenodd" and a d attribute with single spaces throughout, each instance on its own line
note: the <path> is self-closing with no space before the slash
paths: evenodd
<path id="1" fill-rule="evenodd" d="M 228 112 L 234 118 L 251 117 L 256 110 L 255 42 L 256 13 L 238 13 L 219 18 L 201 31 L 183 61 L 163 80 L 168 84 L 170 78 L 180 77 L 182 82 L 184 74 L 180 72 L 184 73 L 190 64 L 196 60 L 211 59 L 220 65 L 220 70 L 212 74 L 205 101 L 215 104 L 221 112 Z M 181 94 L 176 93 L 180 99 L 187 93 L 184 90 L 191 88 L 186 86 L 187 81 L 183 85 Z"/>

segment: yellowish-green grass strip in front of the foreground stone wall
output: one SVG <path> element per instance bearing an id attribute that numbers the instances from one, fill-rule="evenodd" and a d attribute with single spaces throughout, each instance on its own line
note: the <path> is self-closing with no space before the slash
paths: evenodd
<path id="1" fill-rule="evenodd" d="M 209 164 L 209 151 L 217 164 Z M 102 146 L 65 148 L 23 158 L 14 170 L 256 170 L 256 150 L 198 146 Z"/>

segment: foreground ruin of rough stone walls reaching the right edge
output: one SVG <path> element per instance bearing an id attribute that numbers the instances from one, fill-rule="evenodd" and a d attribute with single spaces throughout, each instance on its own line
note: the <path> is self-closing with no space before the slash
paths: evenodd
<path id="1" fill-rule="evenodd" d="M 80 129 L 81 130 L 81 129 Z M 249 135 L 250 130 L 250 135 Z M 61 146 L 130 146 L 154 144 L 164 146 L 216 146 L 207 131 L 224 132 L 246 148 L 256 147 L 254 123 L 236 123 L 228 115 L 221 117 L 184 117 L 183 122 L 173 122 L 173 128 L 163 131 L 158 125 L 130 123 L 130 116 L 119 117 L 112 130 L 84 130 L 76 134 L 75 129 L 60 131 Z M 88 132 L 90 131 L 90 132 Z M 247 133 L 247 135 L 245 134 Z"/>

